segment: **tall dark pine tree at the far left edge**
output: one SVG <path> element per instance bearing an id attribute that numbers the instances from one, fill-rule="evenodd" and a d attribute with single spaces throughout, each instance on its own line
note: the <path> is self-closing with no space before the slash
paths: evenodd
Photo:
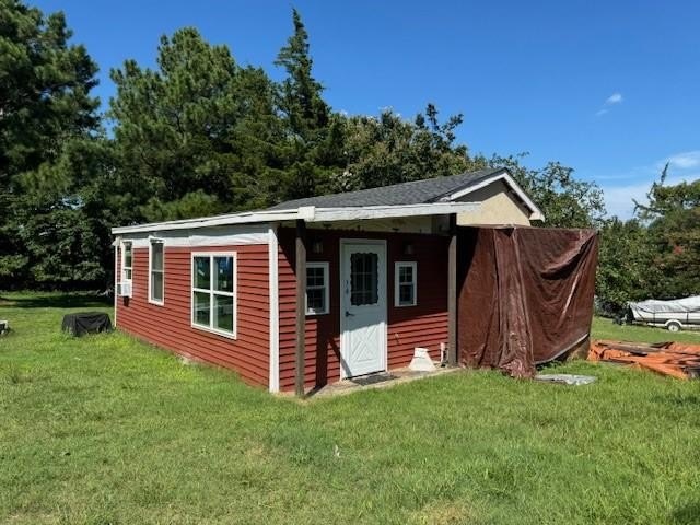
<path id="1" fill-rule="evenodd" d="M 0 288 L 103 277 L 69 167 L 98 130 L 97 67 L 70 37 L 62 13 L 0 0 Z"/>

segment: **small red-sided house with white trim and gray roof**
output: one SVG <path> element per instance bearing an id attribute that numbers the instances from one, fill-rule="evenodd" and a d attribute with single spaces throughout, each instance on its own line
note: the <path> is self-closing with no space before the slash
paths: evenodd
<path id="1" fill-rule="evenodd" d="M 456 362 L 456 225 L 537 219 L 490 170 L 115 228 L 115 324 L 270 392 Z"/>

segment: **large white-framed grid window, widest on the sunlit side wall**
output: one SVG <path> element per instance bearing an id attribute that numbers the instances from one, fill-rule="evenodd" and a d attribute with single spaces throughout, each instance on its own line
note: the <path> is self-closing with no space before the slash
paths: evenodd
<path id="1" fill-rule="evenodd" d="M 192 326 L 236 337 L 236 254 L 192 254 Z"/>

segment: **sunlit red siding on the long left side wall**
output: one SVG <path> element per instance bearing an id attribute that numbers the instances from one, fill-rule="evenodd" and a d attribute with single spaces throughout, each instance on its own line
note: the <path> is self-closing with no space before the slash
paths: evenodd
<path id="1" fill-rule="evenodd" d="M 191 326 L 191 253 L 237 254 L 236 339 Z M 120 264 L 120 255 L 117 258 Z M 165 245 L 165 303 L 148 301 L 148 248 L 133 249 L 133 296 L 117 298 L 117 326 L 180 355 L 235 370 L 247 383 L 268 385 L 268 245 L 182 248 Z"/>

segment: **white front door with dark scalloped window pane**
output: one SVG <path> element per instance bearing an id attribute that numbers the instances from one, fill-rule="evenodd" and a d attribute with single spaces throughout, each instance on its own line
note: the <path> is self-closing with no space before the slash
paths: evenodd
<path id="1" fill-rule="evenodd" d="M 340 242 L 341 377 L 386 370 L 386 243 Z"/>

